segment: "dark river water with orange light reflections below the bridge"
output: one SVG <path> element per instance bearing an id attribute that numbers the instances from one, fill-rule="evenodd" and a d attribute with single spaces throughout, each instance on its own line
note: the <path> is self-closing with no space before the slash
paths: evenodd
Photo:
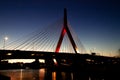
<path id="1" fill-rule="evenodd" d="M 105 77 L 96 73 L 91 75 L 88 72 L 63 72 L 44 68 L 0 70 L 0 74 L 10 77 L 11 80 L 118 80 L 115 78 L 119 78 L 110 74 Z"/>

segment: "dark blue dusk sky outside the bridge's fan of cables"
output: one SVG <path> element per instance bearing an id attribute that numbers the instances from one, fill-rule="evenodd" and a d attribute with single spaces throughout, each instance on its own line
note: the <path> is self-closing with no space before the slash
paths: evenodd
<path id="1" fill-rule="evenodd" d="M 52 24 L 63 17 L 84 47 L 105 55 L 116 55 L 120 48 L 119 0 L 0 0 L 0 44 Z M 9 41 L 10 41 L 9 40 Z"/>

